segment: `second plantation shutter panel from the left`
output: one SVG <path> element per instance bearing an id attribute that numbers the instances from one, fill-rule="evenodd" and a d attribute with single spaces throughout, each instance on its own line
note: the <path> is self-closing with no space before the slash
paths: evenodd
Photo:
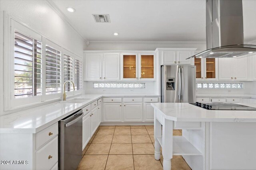
<path id="1" fill-rule="evenodd" d="M 61 54 L 46 44 L 46 94 L 61 92 Z"/>

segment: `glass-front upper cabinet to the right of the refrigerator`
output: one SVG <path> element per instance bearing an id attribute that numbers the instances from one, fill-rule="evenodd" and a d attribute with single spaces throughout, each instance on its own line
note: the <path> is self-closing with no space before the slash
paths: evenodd
<path id="1" fill-rule="evenodd" d="M 217 63 L 218 59 L 195 59 L 196 78 L 197 80 L 216 80 L 217 79 Z"/>

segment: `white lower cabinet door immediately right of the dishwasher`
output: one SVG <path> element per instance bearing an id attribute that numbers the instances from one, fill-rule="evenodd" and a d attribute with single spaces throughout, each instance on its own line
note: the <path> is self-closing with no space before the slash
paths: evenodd
<path id="1" fill-rule="evenodd" d="M 91 113 L 83 117 L 83 150 L 91 138 Z"/>

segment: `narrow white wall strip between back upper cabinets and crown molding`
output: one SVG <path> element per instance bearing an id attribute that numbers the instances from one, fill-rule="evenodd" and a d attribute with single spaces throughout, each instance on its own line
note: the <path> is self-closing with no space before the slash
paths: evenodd
<path id="1" fill-rule="evenodd" d="M 104 37 L 103 37 L 104 38 Z M 170 40 L 171 41 L 171 40 Z M 90 42 L 84 45 L 84 50 L 150 50 L 156 48 L 198 48 L 197 51 L 206 50 L 206 43 L 192 42 L 116 42 L 101 43 Z"/>

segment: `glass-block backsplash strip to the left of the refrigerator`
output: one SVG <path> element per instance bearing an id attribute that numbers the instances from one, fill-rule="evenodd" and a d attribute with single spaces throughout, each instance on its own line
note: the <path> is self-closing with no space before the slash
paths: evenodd
<path id="1" fill-rule="evenodd" d="M 93 83 L 93 88 L 146 88 L 145 83 Z"/>

